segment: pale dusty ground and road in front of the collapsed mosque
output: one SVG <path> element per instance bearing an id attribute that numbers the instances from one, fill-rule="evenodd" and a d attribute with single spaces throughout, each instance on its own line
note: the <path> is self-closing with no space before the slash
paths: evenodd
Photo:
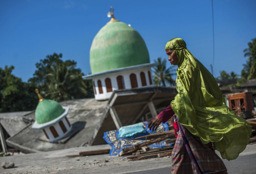
<path id="1" fill-rule="evenodd" d="M 78 154 L 80 151 L 108 147 L 110 146 L 96 145 L 0 157 L 0 162 L 14 162 L 15 164 L 14 168 L 0 168 L 0 173 L 129 173 L 170 167 L 171 164 L 170 156 L 143 160 L 127 160 L 120 156 L 109 157 L 108 154 L 66 156 Z M 247 145 L 240 155 L 251 154 L 256 154 L 256 144 Z M 235 160 L 233 160 L 234 165 L 237 165 L 237 162 L 235 163 Z"/>

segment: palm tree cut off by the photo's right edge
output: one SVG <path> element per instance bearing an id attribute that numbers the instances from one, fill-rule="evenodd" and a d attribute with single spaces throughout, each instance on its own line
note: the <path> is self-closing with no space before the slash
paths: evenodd
<path id="1" fill-rule="evenodd" d="M 248 57 L 246 64 L 243 64 L 241 76 L 244 79 L 256 78 L 256 37 L 248 42 L 248 48 L 243 50 L 244 57 Z"/>

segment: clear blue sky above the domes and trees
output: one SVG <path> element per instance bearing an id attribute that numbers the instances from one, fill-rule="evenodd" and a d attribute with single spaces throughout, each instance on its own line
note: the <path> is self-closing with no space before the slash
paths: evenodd
<path id="1" fill-rule="evenodd" d="M 165 43 L 181 37 L 210 70 L 211 0 L 0 0 L 0 67 L 14 65 L 13 74 L 27 81 L 35 63 L 56 52 L 88 74 L 90 45 L 110 19 L 110 6 L 116 19 L 140 33 L 151 62 L 167 58 Z M 256 0 L 213 0 L 214 76 L 220 70 L 240 74 L 243 49 L 256 37 L 255 6 Z"/>

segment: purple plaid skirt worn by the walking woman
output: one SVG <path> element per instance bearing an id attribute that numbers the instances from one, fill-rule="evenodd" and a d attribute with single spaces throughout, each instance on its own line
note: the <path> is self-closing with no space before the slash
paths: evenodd
<path id="1" fill-rule="evenodd" d="M 174 116 L 173 116 L 174 117 Z M 171 152 L 171 173 L 215 173 L 226 170 L 212 143 L 204 144 L 178 123 L 179 131 Z"/>

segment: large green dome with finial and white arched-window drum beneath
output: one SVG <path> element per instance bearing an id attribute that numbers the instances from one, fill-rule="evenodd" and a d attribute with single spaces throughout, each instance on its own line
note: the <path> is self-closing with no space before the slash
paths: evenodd
<path id="1" fill-rule="evenodd" d="M 95 99 L 108 99 L 113 90 L 153 86 L 148 50 L 140 34 L 113 15 L 95 35 L 90 47 L 91 74 Z"/>

